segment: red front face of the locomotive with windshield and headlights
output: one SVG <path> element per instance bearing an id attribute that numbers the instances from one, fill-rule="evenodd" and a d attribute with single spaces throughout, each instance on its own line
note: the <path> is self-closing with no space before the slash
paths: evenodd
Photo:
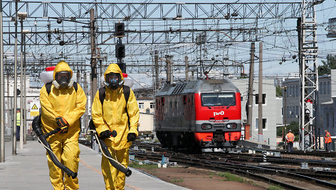
<path id="1" fill-rule="evenodd" d="M 241 138 L 241 94 L 238 89 L 195 94 L 194 138 L 203 151 L 236 147 Z"/>

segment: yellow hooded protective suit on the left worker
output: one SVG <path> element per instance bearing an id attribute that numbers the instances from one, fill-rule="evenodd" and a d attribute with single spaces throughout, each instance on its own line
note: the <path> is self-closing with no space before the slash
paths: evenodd
<path id="1" fill-rule="evenodd" d="M 64 61 L 58 62 L 53 72 L 55 79 L 56 72 L 68 71 L 73 76 L 73 71 Z M 86 96 L 83 89 L 78 84 L 77 92 L 73 86 L 68 89 L 57 89 L 51 85 L 51 92 L 48 94 L 46 85 L 40 90 L 41 102 L 41 127 L 44 132 L 58 128 L 56 118 L 63 117 L 68 122 L 68 133 L 56 133 L 48 138 L 51 149 L 65 167 L 73 172 L 78 172 L 79 146 L 78 138 L 80 133 L 80 117 L 85 112 Z M 79 189 L 78 178 L 72 179 L 64 175 L 51 161 L 49 155 L 48 167 L 51 184 L 54 189 Z"/>

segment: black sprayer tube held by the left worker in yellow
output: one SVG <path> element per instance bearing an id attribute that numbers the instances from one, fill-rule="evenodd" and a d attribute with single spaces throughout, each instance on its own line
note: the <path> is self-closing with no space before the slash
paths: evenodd
<path id="1" fill-rule="evenodd" d="M 53 150 L 51 150 L 50 144 L 46 140 L 46 138 L 48 138 L 50 135 L 58 133 L 61 130 L 61 128 L 56 128 L 56 130 L 52 130 L 49 133 L 43 133 L 43 131 L 41 129 L 41 117 L 40 116 L 37 116 L 33 119 L 32 128 L 35 131 L 38 140 L 46 148 L 46 150 L 48 152 L 48 155 L 51 158 L 51 161 L 53 161 L 53 163 L 57 167 L 62 169 L 63 172 L 68 174 L 68 177 L 71 177 L 72 179 L 75 179 L 77 177 L 77 172 L 73 172 L 70 169 L 68 169 L 68 167 L 65 167 L 65 165 L 61 164 L 61 162 L 57 159 L 55 153 L 53 153 Z"/>

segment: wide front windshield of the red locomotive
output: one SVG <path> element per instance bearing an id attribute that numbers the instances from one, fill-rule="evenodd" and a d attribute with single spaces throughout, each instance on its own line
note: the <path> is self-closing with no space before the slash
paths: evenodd
<path id="1" fill-rule="evenodd" d="M 202 106 L 236 106 L 236 94 L 201 94 Z"/>

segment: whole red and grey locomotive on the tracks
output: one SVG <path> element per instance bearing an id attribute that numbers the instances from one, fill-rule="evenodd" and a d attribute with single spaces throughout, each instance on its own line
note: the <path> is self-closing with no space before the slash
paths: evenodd
<path id="1" fill-rule="evenodd" d="M 155 104 L 163 147 L 218 151 L 236 147 L 241 138 L 241 94 L 227 79 L 166 84 Z"/>

